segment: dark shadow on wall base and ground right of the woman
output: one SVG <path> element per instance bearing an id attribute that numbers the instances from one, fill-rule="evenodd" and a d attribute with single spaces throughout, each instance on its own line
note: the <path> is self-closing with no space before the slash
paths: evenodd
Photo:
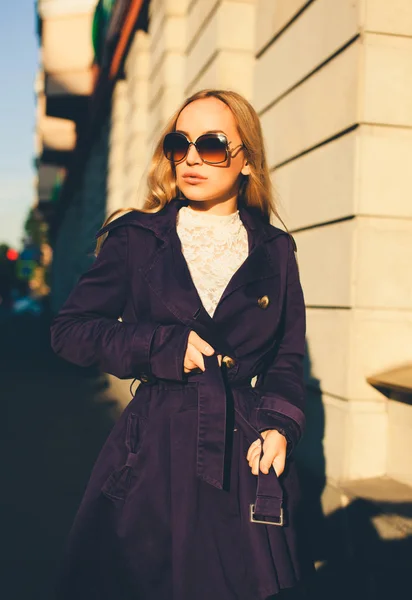
<path id="1" fill-rule="evenodd" d="M 412 522 L 410 502 L 378 503 L 355 498 L 346 506 L 330 508 L 326 516 L 323 512 L 321 499 L 327 486 L 323 449 L 325 412 L 321 381 L 312 372 L 308 347 L 305 369 L 306 432 L 296 455 L 304 499 L 304 533 L 317 565 L 309 599 L 412 598 L 411 528 L 404 527 L 407 521 L 402 523 L 402 517 Z M 340 493 L 343 490 L 335 489 L 332 494 L 336 504 Z M 325 496 L 328 497 L 328 491 Z M 329 503 L 330 498 L 329 493 Z M 389 524 L 388 517 L 396 526 Z"/>

